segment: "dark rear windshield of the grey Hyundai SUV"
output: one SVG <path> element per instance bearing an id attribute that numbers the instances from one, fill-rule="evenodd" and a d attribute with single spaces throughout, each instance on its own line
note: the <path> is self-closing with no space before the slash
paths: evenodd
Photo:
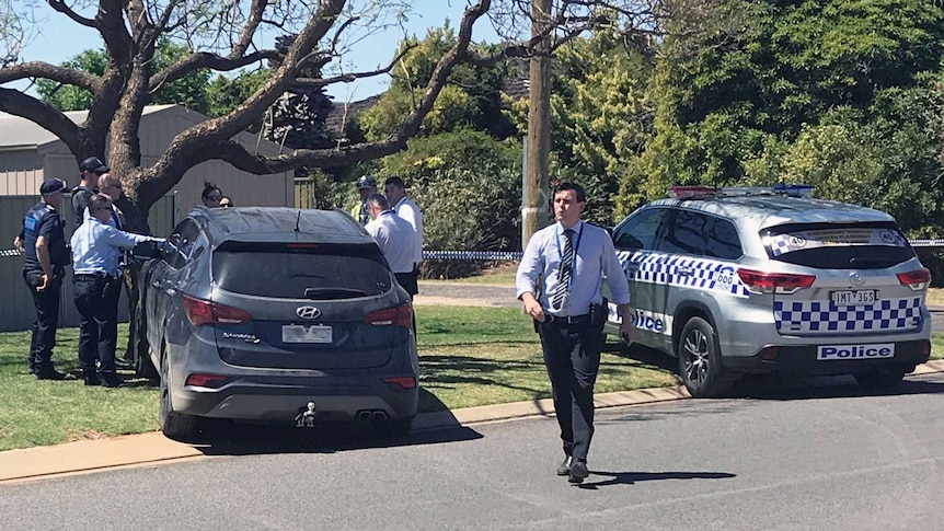
<path id="1" fill-rule="evenodd" d="M 373 244 L 227 242 L 212 256 L 214 284 L 281 299 L 353 299 L 385 293 L 390 269 Z"/>

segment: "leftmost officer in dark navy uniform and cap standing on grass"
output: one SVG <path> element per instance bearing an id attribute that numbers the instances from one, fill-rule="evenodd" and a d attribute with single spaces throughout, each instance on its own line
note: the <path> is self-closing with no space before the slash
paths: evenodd
<path id="1" fill-rule="evenodd" d="M 42 201 L 23 219 L 23 280 L 33 293 L 36 321 L 30 344 L 30 369 L 37 380 L 62 380 L 53 366 L 56 327 L 59 324 L 59 292 L 69 264 L 66 235 L 58 208 L 69 187 L 60 178 L 47 178 L 39 186 Z"/>

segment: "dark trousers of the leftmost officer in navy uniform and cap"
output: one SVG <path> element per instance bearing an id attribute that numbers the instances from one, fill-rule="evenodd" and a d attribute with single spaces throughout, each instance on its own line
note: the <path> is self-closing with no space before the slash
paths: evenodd
<path id="1" fill-rule="evenodd" d="M 23 270 L 23 280 L 33 293 L 36 307 L 36 321 L 33 321 L 33 336 L 30 339 L 28 365 L 31 372 L 53 369 L 53 348 L 56 346 L 56 328 L 59 326 L 59 296 L 62 288 L 61 273 L 54 273 L 49 285 L 43 291 L 36 288 L 43 284 L 42 270 Z"/>

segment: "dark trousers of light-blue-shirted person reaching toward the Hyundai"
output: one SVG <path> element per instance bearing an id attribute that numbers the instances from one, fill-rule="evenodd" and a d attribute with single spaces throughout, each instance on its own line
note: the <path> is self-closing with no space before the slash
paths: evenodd
<path id="1" fill-rule="evenodd" d="M 103 275 L 76 275 L 72 282 L 79 310 L 79 367 L 83 372 L 115 372 L 118 340 L 118 297 L 122 279 Z"/>

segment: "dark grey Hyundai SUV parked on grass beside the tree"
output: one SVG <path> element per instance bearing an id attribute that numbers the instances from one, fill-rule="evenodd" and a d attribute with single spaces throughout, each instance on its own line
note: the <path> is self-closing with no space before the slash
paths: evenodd
<path id="1" fill-rule="evenodd" d="M 410 431 L 410 297 L 345 212 L 198 207 L 138 279 L 136 363 L 160 377 L 168 437 L 193 436 L 203 418 Z"/>

